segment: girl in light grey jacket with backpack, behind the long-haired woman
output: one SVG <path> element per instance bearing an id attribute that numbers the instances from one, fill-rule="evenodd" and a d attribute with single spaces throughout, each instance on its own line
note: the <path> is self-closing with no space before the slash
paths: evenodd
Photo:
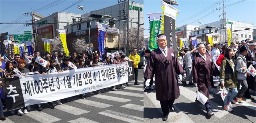
<path id="1" fill-rule="evenodd" d="M 237 71 L 237 96 L 232 100 L 234 104 L 243 103 L 242 96 L 244 95 L 245 91 L 248 89 L 248 84 L 246 82 L 246 75 L 250 76 L 251 74 L 247 71 L 246 67 L 246 54 L 248 53 L 249 49 L 246 46 L 241 46 L 238 52 L 238 57 L 236 59 L 236 71 Z M 240 86 L 241 89 L 240 89 Z M 240 90 L 239 90 L 240 89 Z"/>

